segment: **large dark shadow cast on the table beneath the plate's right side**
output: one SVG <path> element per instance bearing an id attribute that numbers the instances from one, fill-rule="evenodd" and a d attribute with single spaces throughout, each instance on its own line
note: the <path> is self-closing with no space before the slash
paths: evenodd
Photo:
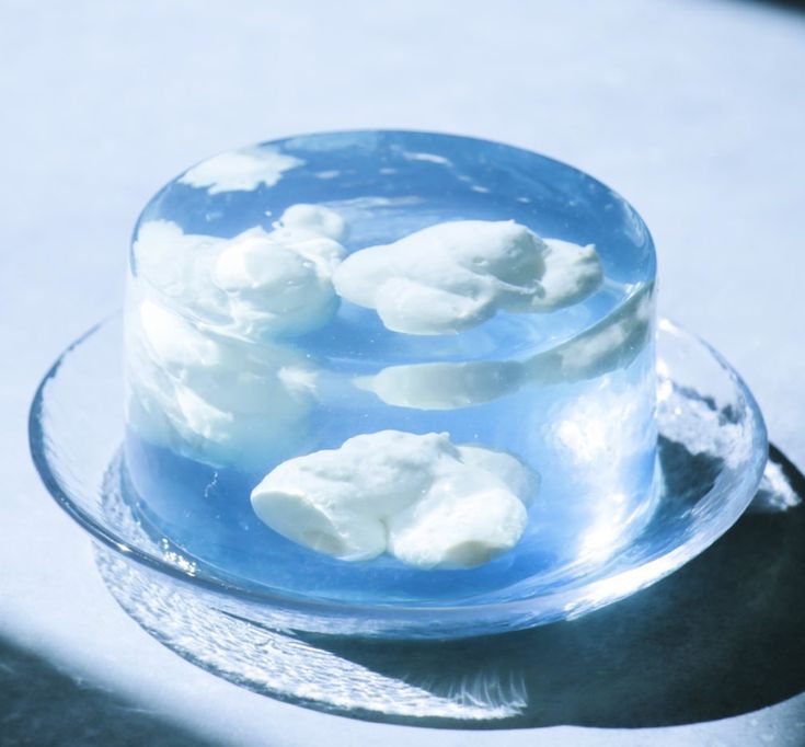
<path id="1" fill-rule="evenodd" d="M 803 475 L 773 447 L 771 457 L 804 496 Z M 789 506 L 747 514 L 668 578 L 577 620 L 450 642 L 300 637 L 490 714 L 389 721 L 462 728 L 647 727 L 724 719 L 802 692 L 805 509 Z"/>

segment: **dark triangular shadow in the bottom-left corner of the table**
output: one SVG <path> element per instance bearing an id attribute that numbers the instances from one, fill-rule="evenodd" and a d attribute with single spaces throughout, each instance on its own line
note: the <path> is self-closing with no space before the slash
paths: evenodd
<path id="1" fill-rule="evenodd" d="M 1 747 L 212 747 L 0 639 Z"/>

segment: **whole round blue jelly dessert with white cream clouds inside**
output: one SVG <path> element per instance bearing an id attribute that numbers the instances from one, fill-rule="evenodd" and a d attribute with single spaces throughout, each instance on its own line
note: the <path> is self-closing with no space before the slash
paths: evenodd
<path id="1" fill-rule="evenodd" d="M 651 518 L 649 233 L 521 149 L 319 134 L 146 206 L 126 306 L 126 499 L 239 587 L 495 602 Z"/>

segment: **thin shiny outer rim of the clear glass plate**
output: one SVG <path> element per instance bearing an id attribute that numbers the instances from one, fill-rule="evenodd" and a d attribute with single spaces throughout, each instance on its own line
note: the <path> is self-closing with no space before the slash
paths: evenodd
<path id="1" fill-rule="evenodd" d="M 101 542 L 106 548 L 122 555 L 125 560 L 131 560 L 137 562 L 139 565 L 145 566 L 148 570 L 154 571 L 158 574 L 166 575 L 182 584 L 199 587 L 203 590 L 211 591 L 227 597 L 233 597 L 242 601 L 256 604 L 260 606 L 271 606 L 272 608 L 285 609 L 289 611 L 299 611 L 302 613 L 312 613 L 321 616 L 364 616 L 367 613 L 373 613 L 376 616 L 383 616 L 388 613 L 396 619 L 402 618 L 418 618 L 423 614 L 440 614 L 440 616 L 464 616 L 469 611 L 478 612 L 490 612 L 490 611 L 503 611 L 509 612 L 510 617 L 515 617 L 518 613 L 533 613 L 533 604 L 537 600 L 542 601 L 551 608 L 559 608 L 563 606 L 563 599 L 567 599 L 568 604 L 572 600 L 584 598 L 588 596 L 595 596 L 595 591 L 603 586 L 620 586 L 619 582 L 629 578 L 635 574 L 643 577 L 643 582 L 634 585 L 623 585 L 628 590 L 622 595 L 608 595 L 607 604 L 616 601 L 619 598 L 629 596 L 645 586 L 659 581 L 664 576 L 678 570 L 688 560 L 692 560 L 698 554 L 703 552 L 710 544 L 715 542 L 740 517 L 746 507 L 749 505 L 754 497 L 754 491 L 747 491 L 747 495 L 740 502 L 734 502 L 728 504 L 727 508 L 731 509 L 728 514 L 724 515 L 724 521 L 720 525 L 720 530 L 711 533 L 695 532 L 688 540 L 675 545 L 668 551 L 659 554 L 656 558 L 648 560 L 647 562 L 628 567 L 610 576 L 596 577 L 594 581 L 587 584 L 580 584 L 565 588 L 555 593 L 545 595 L 533 595 L 530 597 L 518 598 L 511 601 L 494 602 L 494 604 L 478 604 L 478 605 L 438 605 L 438 606 L 417 606 L 417 605 L 403 605 L 403 604 L 372 604 L 372 605 L 358 605 L 349 602 L 330 601 L 322 599 L 304 599 L 291 595 L 286 595 L 279 591 L 256 591 L 253 589 L 244 589 L 232 584 L 228 584 L 223 581 L 216 579 L 212 577 L 196 575 L 187 573 L 182 568 L 166 563 L 165 561 L 154 556 L 137 547 L 131 547 L 123 538 L 116 537 L 114 532 L 101 525 L 95 518 L 90 516 L 83 510 L 76 501 L 71 497 L 69 491 L 64 486 L 62 481 L 59 479 L 57 470 L 50 463 L 48 458 L 47 441 L 48 436 L 46 428 L 43 426 L 43 420 L 41 417 L 44 400 L 46 397 L 47 384 L 57 375 L 61 366 L 64 365 L 67 357 L 79 346 L 81 346 L 88 338 L 92 337 L 99 331 L 102 330 L 106 324 L 112 323 L 119 317 L 120 312 L 115 312 L 104 318 L 74 342 L 72 342 L 65 350 L 59 355 L 56 361 L 50 366 L 48 371 L 39 382 L 36 392 L 34 394 L 30 413 L 28 413 L 28 444 L 34 466 L 45 484 L 46 489 L 50 493 L 51 497 L 57 504 L 94 540 Z M 709 355 L 711 355 L 718 365 L 726 371 L 729 378 L 733 380 L 736 389 L 740 395 L 745 399 L 747 413 L 751 418 L 751 426 L 755 433 L 760 437 L 761 441 L 768 444 L 768 436 L 766 425 L 760 411 L 760 407 L 755 400 L 749 388 L 745 381 L 738 375 L 735 369 L 728 364 L 728 361 L 706 341 L 702 340 L 699 335 L 687 331 L 686 329 L 675 324 L 674 322 L 662 319 L 658 323 L 658 335 L 669 334 L 676 336 L 682 336 L 687 341 L 702 346 Z M 672 377 L 671 377 L 672 378 Z M 766 466 L 766 456 L 762 459 L 756 458 L 748 466 L 752 469 L 751 484 L 759 484 L 760 478 Z M 677 562 L 677 559 L 682 556 L 682 562 Z M 656 570 L 656 571 L 655 571 Z M 550 602 L 550 605 L 548 605 Z"/>

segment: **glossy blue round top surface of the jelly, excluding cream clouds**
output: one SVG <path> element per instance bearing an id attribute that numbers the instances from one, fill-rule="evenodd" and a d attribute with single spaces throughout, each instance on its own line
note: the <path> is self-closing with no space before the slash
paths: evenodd
<path id="1" fill-rule="evenodd" d="M 388 329 L 373 309 L 340 299 L 326 324 L 290 334 L 292 344 L 359 366 L 360 361 L 524 359 L 566 342 L 629 304 L 652 285 L 652 238 L 635 210 L 591 176 L 506 145 L 412 131 L 317 134 L 243 148 L 188 169 L 146 206 L 135 229 L 134 275 L 161 296 L 161 278 L 139 261 L 137 239 L 154 226 L 177 237 L 175 264 L 197 239 L 229 240 L 272 231 L 296 205 L 330 208 L 348 228 L 346 255 L 459 220 L 514 220 L 545 239 L 593 244 L 603 283 L 583 302 L 550 313 L 498 310 L 457 334 L 410 335 Z M 189 272 L 189 271 L 187 271 Z M 216 325 L 193 289 L 160 300 L 193 321 Z M 237 334 L 237 333 L 235 333 Z M 287 334 L 274 335 L 283 338 Z M 287 342 L 287 341 L 286 341 Z"/>

